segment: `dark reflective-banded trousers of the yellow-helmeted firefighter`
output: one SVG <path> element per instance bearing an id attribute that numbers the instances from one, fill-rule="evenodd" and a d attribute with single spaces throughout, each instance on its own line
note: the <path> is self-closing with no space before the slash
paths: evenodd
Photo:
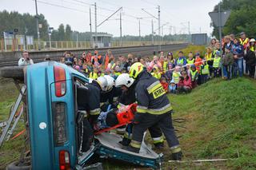
<path id="1" fill-rule="evenodd" d="M 158 125 L 163 134 L 166 136 L 167 143 L 172 152 L 179 152 L 179 142 L 175 135 L 172 124 L 171 112 L 161 115 L 150 113 L 136 113 L 134 117 L 133 136 L 130 145 L 134 148 L 140 148 L 142 143 L 143 133 L 147 128 Z"/>

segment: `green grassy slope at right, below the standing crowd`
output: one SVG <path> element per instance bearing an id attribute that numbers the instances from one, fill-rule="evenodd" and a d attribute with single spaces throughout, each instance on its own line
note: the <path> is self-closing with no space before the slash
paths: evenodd
<path id="1" fill-rule="evenodd" d="M 222 169 L 256 168 L 255 81 L 215 79 L 188 95 L 169 97 L 174 117 L 186 118 L 179 132 L 185 160 L 238 158 L 222 163 Z"/>

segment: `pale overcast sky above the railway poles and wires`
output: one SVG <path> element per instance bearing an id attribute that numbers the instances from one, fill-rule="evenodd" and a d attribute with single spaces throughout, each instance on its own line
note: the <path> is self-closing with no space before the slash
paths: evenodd
<path id="1" fill-rule="evenodd" d="M 122 7 L 122 35 L 138 35 L 138 19 L 141 20 L 141 34 L 151 34 L 151 18 L 142 8 L 158 17 L 157 6 L 161 10 L 161 25 L 163 34 L 177 34 L 190 32 L 210 34 L 210 17 L 208 12 L 214 9 L 220 0 L 38 0 L 38 13 L 44 14 L 46 20 L 58 29 L 58 26 L 70 24 L 72 30 L 80 32 L 90 31 L 90 13 L 92 13 L 92 28 L 94 31 L 94 6 L 97 3 L 98 24 Z M 0 10 L 18 11 L 19 13 L 35 14 L 33 0 L 0 0 Z M 114 14 L 109 21 L 98 26 L 98 32 L 107 32 L 114 36 L 120 35 L 120 13 Z M 158 21 L 154 19 L 154 30 L 158 29 Z M 0 23 L 1 24 L 1 23 Z M 172 27 L 171 27 L 172 26 Z M 158 31 L 156 31 L 158 33 Z"/>

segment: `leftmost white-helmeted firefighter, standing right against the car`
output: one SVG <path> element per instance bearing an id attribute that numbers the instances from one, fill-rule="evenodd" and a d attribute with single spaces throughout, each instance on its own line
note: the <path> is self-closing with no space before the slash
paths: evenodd
<path id="1" fill-rule="evenodd" d="M 89 84 L 83 84 L 77 81 L 77 105 L 78 113 L 78 130 L 81 140 L 78 140 L 78 150 L 86 152 L 90 148 L 93 140 L 93 125 L 96 123 L 100 114 L 100 93 L 106 91 L 107 81 L 105 77 L 98 77 L 96 81 Z M 80 121 L 79 121 L 80 120 Z M 82 120 L 82 121 L 81 121 Z"/>

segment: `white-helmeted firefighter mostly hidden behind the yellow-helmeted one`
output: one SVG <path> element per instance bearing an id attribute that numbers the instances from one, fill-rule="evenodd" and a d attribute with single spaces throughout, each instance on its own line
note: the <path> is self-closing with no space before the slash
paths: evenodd
<path id="1" fill-rule="evenodd" d="M 134 82 L 134 79 L 129 77 L 128 73 L 122 73 L 118 76 L 117 80 L 115 81 L 115 86 L 121 87 L 122 89 L 122 95 L 118 98 L 118 108 L 121 108 L 125 105 L 130 105 L 136 102 L 135 97 L 135 86 L 136 83 Z M 126 132 L 122 138 L 122 141 L 120 141 L 120 144 L 124 146 L 128 146 L 131 141 L 132 136 L 132 127 L 133 125 L 127 125 Z M 153 139 L 153 143 L 155 148 L 163 148 L 163 136 L 162 131 L 158 127 L 158 125 L 154 125 L 153 127 L 149 128 L 150 136 Z"/>

